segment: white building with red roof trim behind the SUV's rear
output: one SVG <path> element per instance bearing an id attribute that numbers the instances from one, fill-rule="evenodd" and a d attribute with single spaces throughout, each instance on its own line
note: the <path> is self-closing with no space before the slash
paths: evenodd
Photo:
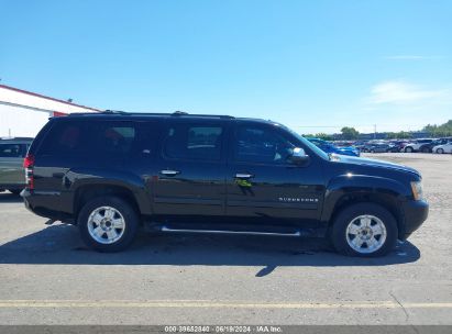
<path id="1" fill-rule="evenodd" d="M 0 85 L 0 137 L 34 137 L 49 118 L 99 111 Z"/>

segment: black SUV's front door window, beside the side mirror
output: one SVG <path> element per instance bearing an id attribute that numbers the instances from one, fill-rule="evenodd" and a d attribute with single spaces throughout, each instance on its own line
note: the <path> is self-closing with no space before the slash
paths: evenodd
<path id="1" fill-rule="evenodd" d="M 234 143 L 238 162 L 286 164 L 293 145 L 276 131 L 261 127 L 239 127 Z"/>

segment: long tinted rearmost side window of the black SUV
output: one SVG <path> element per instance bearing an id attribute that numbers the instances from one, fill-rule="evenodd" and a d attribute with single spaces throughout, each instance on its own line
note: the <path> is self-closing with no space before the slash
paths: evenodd
<path id="1" fill-rule="evenodd" d="M 59 122 L 45 137 L 41 154 L 107 155 L 155 153 L 156 126 L 123 121 Z"/>

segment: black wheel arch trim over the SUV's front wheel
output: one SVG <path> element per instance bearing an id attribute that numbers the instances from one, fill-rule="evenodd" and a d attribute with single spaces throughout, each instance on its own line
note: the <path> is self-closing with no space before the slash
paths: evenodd
<path id="1" fill-rule="evenodd" d="M 339 201 L 334 205 L 333 213 L 330 219 L 330 226 L 333 224 L 338 214 L 344 210 L 345 208 L 356 204 L 370 202 L 379 204 L 386 210 L 388 210 L 397 222 L 398 231 L 403 231 L 403 213 L 400 207 L 397 204 L 397 199 L 389 194 L 382 194 L 382 193 L 349 193 L 344 194 L 339 199 Z"/>

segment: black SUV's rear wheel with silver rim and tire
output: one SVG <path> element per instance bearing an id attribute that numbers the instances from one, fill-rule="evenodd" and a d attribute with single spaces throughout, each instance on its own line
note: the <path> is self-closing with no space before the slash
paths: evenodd
<path id="1" fill-rule="evenodd" d="M 133 242 L 139 216 L 126 201 L 101 197 L 84 205 L 77 224 L 87 246 L 99 252 L 120 252 Z"/>

